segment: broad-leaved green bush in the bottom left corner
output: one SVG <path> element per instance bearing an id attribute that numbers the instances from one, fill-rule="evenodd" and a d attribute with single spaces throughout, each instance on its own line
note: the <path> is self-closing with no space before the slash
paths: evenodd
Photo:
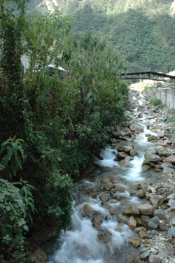
<path id="1" fill-rule="evenodd" d="M 24 183 L 18 182 L 22 186 L 19 189 L 7 180 L 0 179 L 0 250 L 6 259 L 13 254 L 20 262 L 25 262 L 24 234 L 29 230 L 27 220 L 35 211 L 30 192 L 34 188 Z"/>

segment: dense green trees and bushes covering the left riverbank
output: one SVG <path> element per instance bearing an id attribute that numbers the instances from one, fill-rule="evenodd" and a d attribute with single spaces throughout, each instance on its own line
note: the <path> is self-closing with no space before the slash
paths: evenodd
<path id="1" fill-rule="evenodd" d="M 125 119 L 127 87 L 104 38 L 71 34 L 59 13 L 27 17 L 25 1 L 1 1 L 0 22 L 0 253 L 23 262 L 29 229 L 70 224 L 73 179 Z M 63 76 L 47 73 L 52 62 Z"/>

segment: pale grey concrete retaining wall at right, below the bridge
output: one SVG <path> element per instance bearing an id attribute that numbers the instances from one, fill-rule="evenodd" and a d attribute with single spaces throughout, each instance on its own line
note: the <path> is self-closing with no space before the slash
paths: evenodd
<path id="1" fill-rule="evenodd" d="M 168 108 L 175 108 L 175 87 L 158 88 L 156 97 Z"/>

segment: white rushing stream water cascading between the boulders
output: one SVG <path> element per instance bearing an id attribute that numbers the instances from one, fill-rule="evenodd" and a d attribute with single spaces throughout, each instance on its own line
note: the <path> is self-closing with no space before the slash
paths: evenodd
<path id="1" fill-rule="evenodd" d="M 130 168 L 123 168 L 114 162 L 117 151 L 112 148 L 106 148 L 103 152 L 103 160 L 97 162 L 98 168 L 75 185 L 74 214 L 72 223 L 66 233 L 62 233 L 59 240 L 55 244 L 55 252 L 50 255 L 48 263 L 129 263 L 137 257 L 138 250 L 128 244 L 130 236 L 137 234 L 129 229 L 126 224 L 119 223 L 116 216 L 131 204 L 141 204 L 142 199 L 132 196 L 129 189 L 132 189 L 134 181 L 142 181 L 151 178 L 153 173 L 141 171 L 141 164 L 144 161 L 144 153 L 146 149 L 153 146 L 153 143 L 147 141 L 146 133 L 151 131 L 146 129 L 148 122 L 146 116 L 140 119 L 140 124 L 144 127 L 144 132 L 139 134 L 139 138 L 132 141 L 134 149 L 139 152 L 131 161 Z M 126 143 L 126 142 L 125 142 Z M 116 183 L 116 187 L 125 187 L 124 192 L 120 192 L 120 200 L 114 204 L 108 203 L 110 208 L 115 211 L 111 215 L 109 209 L 104 206 L 99 194 L 104 193 L 102 178 L 111 174 L 120 175 L 120 179 Z M 156 176 L 155 176 L 156 180 Z M 97 197 L 92 198 L 92 193 L 97 193 Z M 89 204 L 94 211 L 103 215 L 103 223 L 99 229 L 92 226 L 92 218 L 84 218 L 80 211 L 84 204 Z M 98 234 L 102 234 L 109 230 L 110 241 L 107 243 L 99 242 Z"/>

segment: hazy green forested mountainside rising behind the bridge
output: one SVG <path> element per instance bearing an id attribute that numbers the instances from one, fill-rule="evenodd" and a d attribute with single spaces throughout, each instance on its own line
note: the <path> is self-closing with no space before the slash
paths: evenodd
<path id="1" fill-rule="evenodd" d="M 175 69 L 175 1 L 30 0 L 28 8 L 60 10 L 75 19 L 72 31 L 100 31 L 129 68 Z"/>

